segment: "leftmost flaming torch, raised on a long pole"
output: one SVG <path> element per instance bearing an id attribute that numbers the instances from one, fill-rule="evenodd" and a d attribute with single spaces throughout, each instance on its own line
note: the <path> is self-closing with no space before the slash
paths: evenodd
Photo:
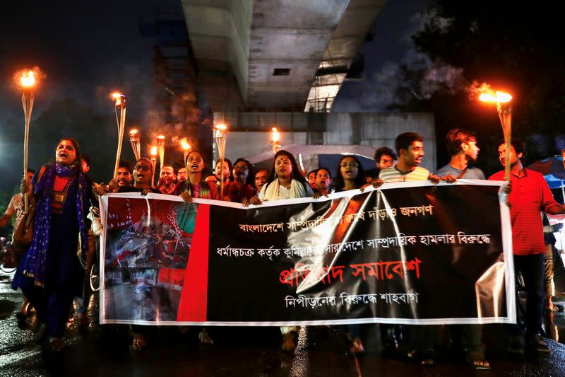
<path id="1" fill-rule="evenodd" d="M 22 105 L 23 105 L 23 116 L 25 123 L 25 131 L 23 136 L 23 179 L 28 178 L 28 146 L 30 139 L 30 120 L 31 112 L 33 109 L 33 87 L 35 86 L 36 80 L 40 79 L 44 74 L 40 71 L 38 67 L 34 69 L 24 69 L 23 71 L 18 71 L 14 74 L 13 78 L 16 81 L 16 86 L 22 92 Z M 24 211 L 28 212 L 28 193 L 23 195 L 24 200 Z"/>

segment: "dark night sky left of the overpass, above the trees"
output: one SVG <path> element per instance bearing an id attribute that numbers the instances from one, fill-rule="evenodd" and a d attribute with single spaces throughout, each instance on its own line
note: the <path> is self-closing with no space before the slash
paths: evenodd
<path id="1" fill-rule="evenodd" d="M 20 67 L 38 65 L 47 74 L 37 90 L 39 111 L 68 96 L 102 111 L 111 109 L 107 93 L 114 88 L 147 91 L 153 40 L 140 35 L 137 23 L 151 2 L 9 1 L 0 16 L 3 115 L 19 114 L 10 78 Z M 133 112 L 138 104 L 131 104 Z"/>

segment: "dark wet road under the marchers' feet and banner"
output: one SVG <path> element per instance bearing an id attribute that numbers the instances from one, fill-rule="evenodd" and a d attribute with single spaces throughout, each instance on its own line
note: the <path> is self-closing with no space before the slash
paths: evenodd
<path id="1" fill-rule="evenodd" d="M 22 297 L 10 279 L 0 271 L 0 376 L 565 376 L 563 344 L 547 340 L 550 355 L 511 357 L 500 325 L 484 326 L 490 371 L 473 370 L 448 348 L 433 367 L 383 356 L 378 325 L 362 327 L 367 354 L 359 357 L 347 354 L 340 327 L 306 327 L 294 356 L 278 351 L 275 327 L 210 327 L 212 346 L 198 344 L 196 327 L 151 327 L 148 348 L 133 352 L 127 326 L 93 323 L 80 331 L 77 320 L 67 332 L 69 347 L 51 352 L 32 341 L 28 326 L 18 327 Z M 92 304 L 89 317 L 97 310 Z M 554 323 L 547 333 L 563 339 L 565 314 L 555 313 Z"/>

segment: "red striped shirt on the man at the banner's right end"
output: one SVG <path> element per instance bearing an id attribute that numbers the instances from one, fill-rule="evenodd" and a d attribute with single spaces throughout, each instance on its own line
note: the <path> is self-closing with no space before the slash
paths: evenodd
<path id="1" fill-rule="evenodd" d="M 543 175 L 523 169 L 518 177 L 511 173 L 512 191 L 509 194 L 512 249 L 515 255 L 545 253 L 541 211 L 559 206 Z M 494 173 L 489 180 L 504 180 L 504 170 Z M 559 206 L 561 207 L 561 206 Z"/>

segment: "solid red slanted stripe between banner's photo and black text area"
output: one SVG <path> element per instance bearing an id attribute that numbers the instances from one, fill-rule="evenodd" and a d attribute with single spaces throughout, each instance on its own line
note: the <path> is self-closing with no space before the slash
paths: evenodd
<path id="1" fill-rule="evenodd" d="M 206 321 L 210 204 L 198 204 L 196 226 L 184 274 L 177 321 Z"/>

